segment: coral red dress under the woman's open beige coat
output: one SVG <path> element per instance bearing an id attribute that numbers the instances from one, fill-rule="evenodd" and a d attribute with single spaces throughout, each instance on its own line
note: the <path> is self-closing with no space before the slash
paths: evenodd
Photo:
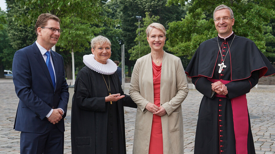
<path id="1" fill-rule="evenodd" d="M 157 66 L 153 61 L 153 85 L 154 85 L 154 104 L 160 106 L 160 77 L 162 64 Z M 153 114 L 152 130 L 149 144 L 149 154 L 162 154 L 162 120 L 160 116 Z"/>

